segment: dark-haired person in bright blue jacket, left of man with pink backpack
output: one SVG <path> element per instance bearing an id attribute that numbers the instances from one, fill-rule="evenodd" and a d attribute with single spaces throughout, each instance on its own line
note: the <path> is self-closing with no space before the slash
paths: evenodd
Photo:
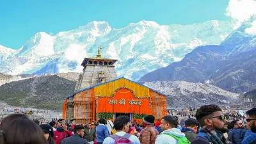
<path id="1" fill-rule="evenodd" d="M 105 124 L 106 120 L 104 118 L 100 118 L 99 125 L 96 127 L 97 144 L 102 144 L 104 139 L 109 136 L 108 127 Z"/>

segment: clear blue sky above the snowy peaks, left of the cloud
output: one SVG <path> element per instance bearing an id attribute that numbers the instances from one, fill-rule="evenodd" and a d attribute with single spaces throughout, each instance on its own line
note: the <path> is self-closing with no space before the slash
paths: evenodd
<path id="1" fill-rule="evenodd" d="M 35 33 L 56 34 L 105 20 L 112 28 L 153 20 L 158 24 L 193 24 L 228 20 L 228 0 L 0 0 L 0 45 L 19 49 Z"/>

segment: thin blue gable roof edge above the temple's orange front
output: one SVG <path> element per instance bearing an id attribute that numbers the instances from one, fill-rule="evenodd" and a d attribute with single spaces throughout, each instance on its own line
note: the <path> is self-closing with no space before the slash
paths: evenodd
<path id="1" fill-rule="evenodd" d="M 113 80 L 111 80 L 111 81 L 107 81 L 106 83 L 96 84 L 96 85 L 94 85 L 94 86 L 90 86 L 90 87 L 84 88 L 84 89 L 82 89 L 82 90 L 77 90 L 77 91 L 75 91 L 72 95 L 68 95 L 67 99 L 70 98 L 70 97 L 74 97 L 74 94 L 76 94 L 76 93 L 83 92 L 83 91 L 86 91 L 86 90 L 90 90 L 90 89 L 92 89 L 92 88 L 95 88 L 96 86 L 100 86 L 100 85 L 103 85 L 103 84 L 111 83 L 111 82 L 113 82 L 113 81 L 118 81 L 119 79 L 126 79 L 127 81 L 131 81 L 132 83 L 139 84 L 139 85 L 144 86 L 144 87 L 146 87 L 146 88 L 148 88 L 148 89 L 150 89 L 150 90 L 152 90 L 152 91 L 154 91 L 154 92 L 157 92 L 157 93 L 160 93 L 161 95 L 166 96 L 164 93 L 161 93 L 161 92 L 159 92 L 159 91 L 157 91 L 157 90 L 154 90 L 154 89 L 152 89 L 152 88 L 149 88 L 148 86 L 145 86 L 145 85 L 143 85 L 143 84 L 137 83 L 137 82 L 132 81 L 132 80 L 130 80 L 130 79 L 127 79 L 127 78 L 125 78 L 125 77 L 119 77 L 119 78 L 117 78 L 117 79 L 113 79 Z"/>

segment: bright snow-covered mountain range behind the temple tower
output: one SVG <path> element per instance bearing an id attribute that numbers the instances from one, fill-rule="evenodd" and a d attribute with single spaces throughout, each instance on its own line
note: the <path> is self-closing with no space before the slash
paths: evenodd
<path id="1" fill-rule="evenodd" d="M 94 21 L 54 36 L 40 32 L 0 61 L 0 72 L 81 72 L 83 58 L 95 56 L 101 45 L 102 56 L 118 60 L 119 76 L 137 80 L 147 72 L 182 60 L 199 45 L 221 44 L 233 31 L 234 24 L 211 20 L 186 26 L 161 26 L 156 22 L 140 21 L 114 29 L 108 22 Z"/>

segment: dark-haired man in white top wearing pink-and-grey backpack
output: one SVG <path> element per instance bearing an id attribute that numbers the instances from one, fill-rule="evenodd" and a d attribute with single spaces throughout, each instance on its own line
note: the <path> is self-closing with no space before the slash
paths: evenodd
<path id="1" fill-rule="evenodd" d="M 131 125 L 131 122 L 128 116 L 118 116 L 114 121 L 116 133 L 105 138 L 103 144 L 114 144 L 120 138 L 124 138 L 125 141 L 133 144 L 140 144 L 140 140 L 136 136 L 127 133 L 129 131 L 129 125 Z"/>

